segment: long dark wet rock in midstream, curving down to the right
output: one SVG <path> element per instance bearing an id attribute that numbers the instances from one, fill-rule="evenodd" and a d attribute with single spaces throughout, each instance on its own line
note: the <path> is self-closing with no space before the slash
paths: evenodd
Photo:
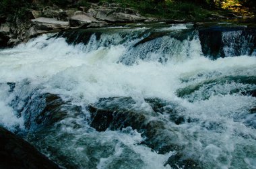
<path id="1" fill-rule="evenodd" d="M 125 127 L 137 129 L 143 137 L 146 137 L 142 144 L 146 144 L 160 154 L 182 150 L 177 135 L 166 125 L 166 121 L 154 119 L 150 113 L 135 111 L 132 109 L 132 104 L 134 104 L 133 99 L 129 97 L 101 99 L 96 105 L 88 106 L 88 111 L 92 114 L 90 125 L 97 131 Z"/>

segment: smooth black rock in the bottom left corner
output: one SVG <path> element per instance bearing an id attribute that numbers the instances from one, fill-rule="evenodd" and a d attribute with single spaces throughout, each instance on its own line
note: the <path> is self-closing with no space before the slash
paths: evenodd
<path id="1" fill-rule="evenodd" d="M 0 168 L 59 168 L 28 142 L 0 127 Z"/>

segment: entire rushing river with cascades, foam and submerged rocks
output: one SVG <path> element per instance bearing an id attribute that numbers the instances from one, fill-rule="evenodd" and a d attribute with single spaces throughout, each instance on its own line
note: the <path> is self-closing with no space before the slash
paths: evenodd
<path id="1" fill-rule="evenodd" d="M 0 124 L 63 168 L 256 168 L 255 32 L 108 27 L 0 50 Z"/>

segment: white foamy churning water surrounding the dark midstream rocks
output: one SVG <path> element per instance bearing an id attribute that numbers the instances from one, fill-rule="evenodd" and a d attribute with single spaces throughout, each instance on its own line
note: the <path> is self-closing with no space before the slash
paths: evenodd
<path id="1" fill-rule="evenodd" d="M 177 25 L 167 29 L 182 30 L 187 27 Z M 82 107 L 96 103 L 100 98 L 132 97 L 137 107 L 143 108 L 148 105 L 144 99 L 159 98 L 178 105 L 176 109 L 179 115 L 187 120 L 177 125 L 168 119 L 168 114 L 154 117 L 167 121 L 166 125 L 179 136 L 175 144 L 184 147 L 181 150 L 183 154 L 201 162 L 203 168 L 256 167 L 256 132 L 250 125 L 255 123 L 255 114 L 249 113 L 255 107 L 256 99 L 241 94 L 243 91 L 255 90 L 255 82 L 245 84 L 239 80 L 220 80 L 229 76 L 255 76 L 255 57 L 235 56 L 210 60 L 203 56 L 197 36 L 183 41 L 163 36 L 135 50 L 133 45 L 139 39 L 128 39 L 122 44 L 122 37 L 118 35 L 114 39 L 103 35 L 100 40 L 92 36 L 87 46 L 69 45 L 65 38 L 49 39 L 50 36 L 43 35 L 27 44 L 0 50 L 1 125 L 10 129 L 24 125 L 23 116 L 17 117 L 13 107 L 8 104 L 15 95 L 25 98 L 34 90 L 60 95 L 63 100 Z M 115 43 L 103 45 L 111 39 Z M 156 42 L 158 44 L 154 44 Z M 158 50 L 148 51 L 149 46 L 161 44 Z M 172 46 L 172 50 L 166 46 Z M 145 52 L 146 59 L 139 58 Z M 128 58 L 120 62 L 124 56 Z M 161 63 L 158 62 L 159 57 L 168 60 Z M 128 62 L 129 66 L 124 64 Z M 24 81 L 29 83 L 26 88 Z M 6 82 L 16 82 L 13 93 L 8 92 Z M 186 87 L 195 87 L 195 91 L 178 97 L 177 91 Z M 87 115 L 88 112 L 84 109 L 84 113 Z M 82 128 L 73 129 L 73 123 L 78 123 Z M 175 151 L 158 154 L 141 145 L 145 138 L 130 128 L 98 132 L 90 129 L 82 117 L 63 119 L 60 124 L 60 133 L 42 133 L 45 140 L 40 143 L 44 146 L 46 143 L 52 144 L 55 139 L 70 134 L 66 141 L 56 142 L 55 146 L 71 161 L 70 165 L 79 166 L 78 161 L 86 159 L 81 162 L 80 168 L 91 160 L 94 153 L 88 154 L 90 148 L 95 152 L 94 158 L 98 158 L 94 159 L 94 167 L 97 168 L 115 168 L 118 165 L 125 168 L 122 162 L 134 163 L 134 166 L 129 164 L 130 168 L 170 168 L 169 164 L 164 164 L 176 154 Z M 100 145 L 99 150 L 92 142 Z M 100 155 L 104 151 L 106 156 Z M 49 153 L 47 150 L 42 152 Z M 125 161 L 125 158 L 128 160 Z"/>

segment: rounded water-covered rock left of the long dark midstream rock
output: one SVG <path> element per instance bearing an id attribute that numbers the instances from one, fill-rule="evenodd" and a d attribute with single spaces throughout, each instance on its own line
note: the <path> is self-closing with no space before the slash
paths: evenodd
<path id="1" fill-rule="evenodd" d="M 46 125 L 53 125 L 67 117 L 68 111 L 73 111 L 73 115 L 81 112 L 81 107 L 66 103 L 58 95 L 50 93 L 34 94 L 26 102 L 22 114 L 26 129 L 30 131 L 38 130 Z"/>

